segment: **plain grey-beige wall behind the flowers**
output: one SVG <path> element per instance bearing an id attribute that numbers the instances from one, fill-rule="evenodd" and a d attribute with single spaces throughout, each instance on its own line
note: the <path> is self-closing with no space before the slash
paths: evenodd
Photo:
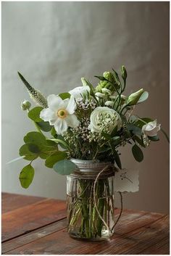
<path id="1" fill-rule="evenodd" d="M 28 93 L 17 70 L 43 94 L 59 94 L 80 85 L 82 76 L 112 67 L 128 69 L 127 91 L 149 91 L 136 107 L 157 117 L 169 133 L 169 2 L 2 2 L 2 190 L 64 199 L 65 178 L 36 161 L 34 181 L 22 189 L 18 157 L 22 137 L 34 126 L 20 110 Z M 130 148 L 122 166 L 140 170 L 140 191 L 125 195 L 125 207 L 169 211 L 169 145 L 160 141 L 137 163 Z"/>

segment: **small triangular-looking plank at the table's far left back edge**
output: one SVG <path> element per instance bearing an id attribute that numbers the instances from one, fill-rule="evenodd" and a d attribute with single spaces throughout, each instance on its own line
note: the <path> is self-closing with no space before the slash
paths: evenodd
<path id="1" fill-rule="evenodd" d="M 35 202 L 40 202 L 44 200 L 44 197 L 30 197 L 23 196 L 21 194 L 1 194 L 1 212 L 9 212 L 14 209 L 23 207 L 25 205 L 31 205 Z"/>

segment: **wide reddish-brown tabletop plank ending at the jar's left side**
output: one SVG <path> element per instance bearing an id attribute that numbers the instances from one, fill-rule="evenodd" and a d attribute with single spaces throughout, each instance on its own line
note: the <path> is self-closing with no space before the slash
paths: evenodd
<path id="1" fill-rule="evenodd" d="M 66 203 L 45 199 L 2 215 L 2 241 L 20 236 L 36 228 L 66 217 Z"/>

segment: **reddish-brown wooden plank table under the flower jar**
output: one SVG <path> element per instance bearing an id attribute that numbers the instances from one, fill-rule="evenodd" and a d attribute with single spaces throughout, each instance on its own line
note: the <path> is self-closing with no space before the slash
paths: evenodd
<path id="1" fill-rule="evenodd" d="M 162 213 L 124 210 L 109 241 L 78 241 L 66 227 L 64 201 L 2 195 L 2 254 L 169 254 L 169 217 Z"/>

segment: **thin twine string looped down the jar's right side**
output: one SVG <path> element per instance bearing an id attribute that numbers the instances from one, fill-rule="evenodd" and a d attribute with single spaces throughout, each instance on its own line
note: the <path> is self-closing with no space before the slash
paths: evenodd
<path id="1" fill-rule="evenodd" d="M 101 173 L 103 173 L 105 170 L 107 170 L 107 168 L 109 168 L 109 165 L 105 166 L 105 168 L 103 170 L 100 171 L 100 173 L 98 173 L 98 175 L 96 176 L 96 180 L 94 181 L 94 184 L 93 184 L 93 200 L 94 200 L 94 206 L 96 208 L 96 211 L 99 215 L 99 218 L 103 221 L 104 223 L 104 226 L 107 227 L 107 230 L 109 231 L 110 234 L 112 234 L 112 231 L 114 229 L 114 227 L 117 225 L 118 221 L 120 220 L 120 217 L 122 215 L 122 209 L 123 209 L 123 202 L 122 202 L 122 193 L 119 191 L 119 194 L 120 194 L 120 214 L 116 220 L 116 222 L 114 223 L 114 226 L 112 226 L 112 228 L 110 229 L 109 226 L 107 225 L 106 221 L 104 220 L 104 218 L 102 218 L 99 210 L 98 210 L 98 207 L 97 207 L 97 203 L 96 203 L 96 183 L 98 181 L 98 178 L 99 176 L 101 176 Z"/>

